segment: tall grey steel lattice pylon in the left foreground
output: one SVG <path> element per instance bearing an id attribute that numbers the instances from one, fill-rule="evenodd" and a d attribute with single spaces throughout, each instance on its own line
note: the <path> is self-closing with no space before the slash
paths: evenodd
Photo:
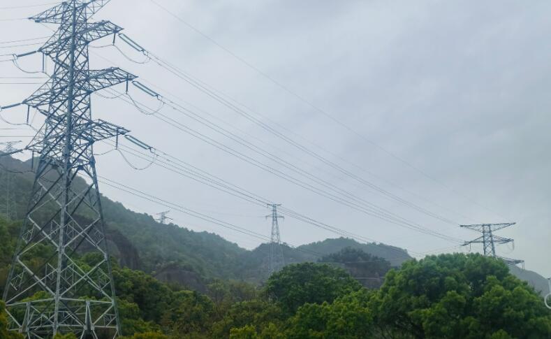
<path id="1" fill-rule="evenodd" d="M 67 0 L 31 17 L 59 27 L 38 50 L 52 59 L 54 72 L 22 102 L 45 115 L 45 124 L 27 147 L 40 160 L 3 294 L 10 330 L 29 339 L 120 333 L 93 145 L 128 131 L 92 120 L 90 96 L 135 76 L 89 69 L 89 43 L 122 31 L 88 21 L 108 2 Z"/>

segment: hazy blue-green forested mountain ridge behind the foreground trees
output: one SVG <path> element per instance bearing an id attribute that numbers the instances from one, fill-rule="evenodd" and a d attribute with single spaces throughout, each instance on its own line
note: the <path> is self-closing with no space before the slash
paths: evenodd
<path id="1" fill-rule="evenodd" d="M 36 166 L 37 161 L 34 161 Z M 34 174 L 31 161 L 0 157 L 0 180 L 9 175 L 13 180 L 11 199 L 13 219 L 22 219 Z M 86 184 L 75 180 L 75 185 Z M 0 206 L 6 203 L 0 194 Z M 159 280 L 184 284 L 203 290 L 208 281 L 244 280 L 260 283 L 266 278 L 269 245 L 261 244 L 245 250 L 215 233 L 196 232 L 175 224 L 159 224 L 152 215 L 128 210 L 122 203 L 102 196 L 106 232 L 112 254 L 119 264 L 152 273 Z M 0 212 L 2 210 L 0 209 Z M 406 250 L 381 243 L 358 243 L 349 238 L 318 241 L 293 248 L 284 245 L 286 264 L 318 261 L 321 256 L 335 254 L 346 247 L 381 257 L 392 266 L 412 259 Z M 513 267 L 511 272 L 526 280 L 538 291 L 548 291 L 547 280 L 531 271 Z"/>

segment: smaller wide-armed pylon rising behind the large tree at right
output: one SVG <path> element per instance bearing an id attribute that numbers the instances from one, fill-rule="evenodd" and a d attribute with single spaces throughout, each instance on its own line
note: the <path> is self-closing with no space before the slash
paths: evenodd
<path id="1" fill-rule="evenodd" d="M 466 229 L 472 229 L 474 231 L 482 233 L 482 236 L 471 241 L 466 241 L 464 245 L 471 244 L 483 244 L 484 256 L 499 258 L 506 262 L 508 265 L 523 264 L 524 260 L 509 259 L 505 257 L 499 257 L 496 254 L 496 245 L 502 245 L 507 243 L 513 243 L 514 240 L 510 238 L 503 238 L 496 236 L 495 231 L 505 229 L 506 227 L 513 226 L 516 222 L 504 222 L 501 224 L 476 224 L 476 225 L 461 225 Z"/>

